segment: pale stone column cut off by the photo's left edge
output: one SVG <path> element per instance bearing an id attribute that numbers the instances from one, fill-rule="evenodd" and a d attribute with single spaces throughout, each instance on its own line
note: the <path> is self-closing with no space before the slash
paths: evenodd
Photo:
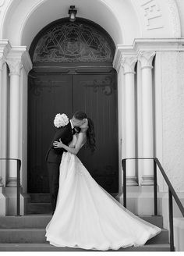
<path id="1" fill-rule="evenodd" d="M 5 64 L 5 58 L 3 55 L 0 55 L 0 141 L 2 141 L 2 69 Z M 0 144 L 0 153 L 2 153 Z M 2 158 L 2 154 L 0 154 L 0 158 Z M 2 161 L 0 162 L 0 187 L 3 187 L 2 182 Z"/>

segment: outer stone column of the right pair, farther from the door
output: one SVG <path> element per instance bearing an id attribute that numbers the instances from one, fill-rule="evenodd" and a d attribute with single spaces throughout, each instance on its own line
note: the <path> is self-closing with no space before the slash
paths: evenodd
<path id="1" fill-rule="evenodd" d="M 143 113 L 143 157 L 154 157 L 154 109 L 153 109 L 153 81 L 152 61 L 155 52 L 140 52 L 139 61 L 141 64 L 142 76 L 142 113 Z M 143 160 L 143 181 L 142 185 L 153 185 L 154 183 L 154 162 Z"/>

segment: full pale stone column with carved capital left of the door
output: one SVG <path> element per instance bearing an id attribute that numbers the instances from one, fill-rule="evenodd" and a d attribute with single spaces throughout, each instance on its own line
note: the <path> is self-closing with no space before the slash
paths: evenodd
<path id="1" fill-rule="evenodd" d="M 8 59 L 10 69 L 9 109 L 9 158 L 19 158 L 19 76 L 23 67 L 21 60 Z M 7 187 L 16 187 L 16 162 L 9 162 Z"/>

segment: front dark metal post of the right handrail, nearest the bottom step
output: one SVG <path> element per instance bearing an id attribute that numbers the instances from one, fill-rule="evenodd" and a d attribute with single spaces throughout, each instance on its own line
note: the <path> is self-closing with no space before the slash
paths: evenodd
<path id="1" fill-rule="evenodd" d="M 169 226 L 170 226 L 170 251 L 175 251 L 174 247 L 174 231 L 173 231 L 173 207 L 172 207 L 172 192 L 168 188 L 168 212 L 169 212 Z"/>

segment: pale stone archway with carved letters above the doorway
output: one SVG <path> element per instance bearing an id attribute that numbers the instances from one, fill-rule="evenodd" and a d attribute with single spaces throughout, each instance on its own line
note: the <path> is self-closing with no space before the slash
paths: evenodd
<path id="1" fill-rule="evenodd" d="M 131 45 L 135 38 L 178 38 L 181 35 L 175 0 L 115 0 L 113 4 L 111 0 L 95 0 L 93 3 L 76 0 L 74 4 L 79 17 L 104 27 L 117 45 Z M 30 48 L 30 42 L 39 30 L 53 20 L 68 16 L 69 4 L 65 0 L 56 0 L 55 5 L 51 0 L 26 4 L 23 0 L 19 3 L 9 0 L 4 1 L 0 9 L 0 37 L 8 38 L 12 45 Z"/>

